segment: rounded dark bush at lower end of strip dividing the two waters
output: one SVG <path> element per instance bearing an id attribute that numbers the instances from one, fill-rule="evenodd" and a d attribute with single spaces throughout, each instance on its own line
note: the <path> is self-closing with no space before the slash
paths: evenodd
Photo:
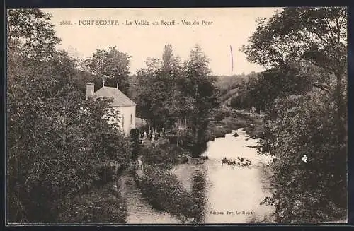
<path id="1" fill-rule="evenodd" d="M 142 194 L 154 208 L 188 218 L 195 218 L 200 213 L 193 195 L 183 188 L 175 175 L 152 166 L 145 167 L 144 172 Z"/>

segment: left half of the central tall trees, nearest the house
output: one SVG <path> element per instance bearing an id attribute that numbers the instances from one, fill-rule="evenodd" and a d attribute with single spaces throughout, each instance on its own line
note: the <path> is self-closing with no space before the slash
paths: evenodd
<path id="1" fill-rule="evenodd" d="M 171 126 L 176 121 L 176 83 L 182 70 L 171 45 L 164 47 L 162 61 L 147 59 L 147 68 L 137 72 L 138 109 L 152 126 Z"/>

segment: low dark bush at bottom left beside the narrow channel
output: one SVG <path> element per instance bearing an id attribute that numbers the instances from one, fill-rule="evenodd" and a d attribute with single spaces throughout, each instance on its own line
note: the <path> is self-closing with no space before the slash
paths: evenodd
<path id="1" fill-rule="evenodd" d="M 62 206 L 59 221 L 62 223 L 125 223 L 127 203 L 118 193 L 113 193 L 113 184 L 89 194 L 67 200 Z"/>

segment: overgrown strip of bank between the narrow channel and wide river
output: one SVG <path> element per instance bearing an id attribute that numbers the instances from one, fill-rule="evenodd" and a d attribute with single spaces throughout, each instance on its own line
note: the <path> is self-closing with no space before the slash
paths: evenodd
<path id="1" fill-rule="evenodd" d="M 144 146 L 139 156 L 144 163 L 144 177 L 138 180 L 144 199 L 156 211 L 175 215 L 181 223 L 193 222 L 199 212 L 195 199 L 171 174 L 173 166 L 188 162 L 188 150 L 173 144 Z"/>

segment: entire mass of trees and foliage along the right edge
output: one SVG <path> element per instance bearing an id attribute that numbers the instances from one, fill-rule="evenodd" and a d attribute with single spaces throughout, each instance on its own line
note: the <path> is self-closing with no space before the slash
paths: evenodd
<path id="1" fill-rule="evenodd" d="M 346 220 L 346 17 L 341 7 L 285 8 L 242 49 L 270 68 L 250 92 L 268 101 L 261 143 L 278 161 L 265 202 L 278 222 Z"/>

